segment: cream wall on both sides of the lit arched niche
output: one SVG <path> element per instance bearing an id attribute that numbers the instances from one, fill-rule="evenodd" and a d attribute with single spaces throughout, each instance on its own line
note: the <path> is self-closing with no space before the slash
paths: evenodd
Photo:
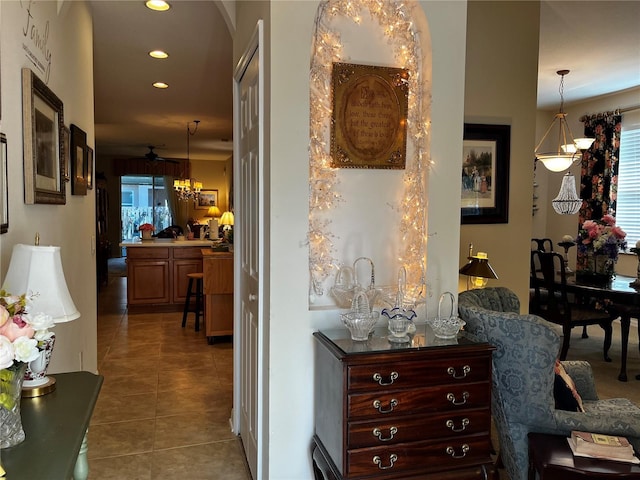
<path id="1" fill-rule="evenodd" d="M 459 168 L 451 159 L 462 151 L 462 112 L 466 4 L 420 2 L 433 47 L 433 104 L 429 176 L 428 276 L 441 291 L 455 291 Z M 236 61 L 253 31 L 255 19 L 266 21 L 268 71 L 266 89 L 269 167 L 268 223 L 270 229 L 270 322 L 266 368 L 269 375 L 269 414 L 266 456 L 272 480 L 312 478 L 309 447 L 313 435 L 313 342 L 319 328 L 338 325 L 333 313 L 308 311 L 309 65 L 317 2 L 282 1 L 238 4 Z M 291 19 L 296 21 L 292 22 Z M 269 73 L 270 72 L 270 73 Z M 456 160 L 457 161 L 457 160 Z M 377 225 L 371 225 L 371 229 Z M 366 234 L 366 231 L 365 231 Z M 437 297 L 434 292 L 432 297 Z M 433 298 L 430 308 L 435 308 Z M 437 301 L 437 298 L 436 298 Z"/>

